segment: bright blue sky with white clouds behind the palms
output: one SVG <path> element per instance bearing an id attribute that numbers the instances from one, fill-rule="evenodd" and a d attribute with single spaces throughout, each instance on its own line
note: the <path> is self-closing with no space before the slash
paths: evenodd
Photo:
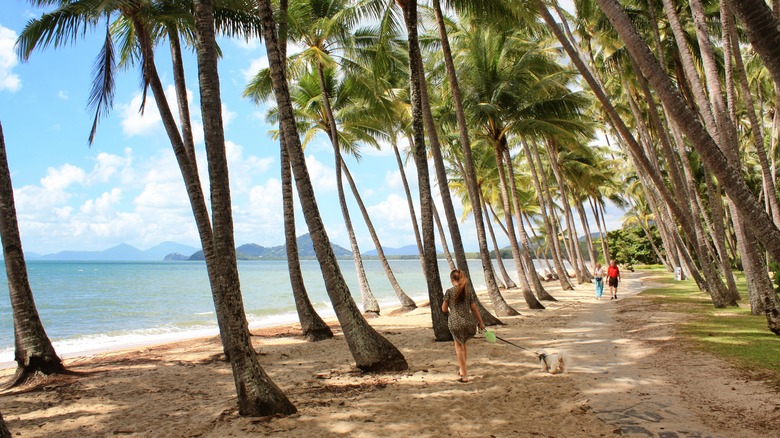
<path id="1" fill-rule="evenodd" d="M 151 92 L 145 114 L 138 112 L 138 69 L 119 72 L 113 111 L 101 121 L 90 147 L 87 138 L 93 115 L 86 104 L 101 35 L 87 33 L 75 45 L 35 52 L 22 63 L 14 53 L 14 43 L 27 21 L 41 12 L 23 1 L 0 2 L 0 122 L 25 251 L 102 250 L 123 242 L 147 249 L 163 241 L 199 247 L 181 174 Z M 279 245 L 283 227 L 278 144 L 268 134 L 272 127 L 264 120 L 264 108 L 241 97 L 248 79 L 268 65 L 265 48 L 259 41 L 223 40 L 220 44 L 236 243 Z M 186 56 L 196 147 L 206 183 L 197 70 L 194 55 Z M 174 102 L 169 58 L 167 46 L 161 47 L 157 67 L 169 100 Z M 327 139 L 311 143 L 306 158 L 328 234 L 333 242 L 349 248 Z M 400 174 L 389 147 L 364 149 L 360 163 L 349 157 L 347 164 L 382 244 L 414 244 Z M 416 195 L 411 161 L 406 173 Z M 368 231 L 349 193 L 348 198 L 360 249 L 370 250 Z M 459 204 L 456 210 L 460 215 Z M 298 213 L 298 234 L 303 234 L 306 226 Z M 619 227 L 621 216 L 622 212 L 608 209 L 608 228 Z M 476 250 L 470 219 L 461 230 L 467 250 Z M 505 239 L 501 241 L 506 244 Z"/>

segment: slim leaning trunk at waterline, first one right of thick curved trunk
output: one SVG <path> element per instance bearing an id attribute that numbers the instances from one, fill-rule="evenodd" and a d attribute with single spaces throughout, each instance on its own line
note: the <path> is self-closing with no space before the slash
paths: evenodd
<path id="1" fill-rule="evenodd" d="M 336 161 L 336 188 L 338 189 L 339 206 L 341 206 L 341 214 L 344 217 L 344 227 L 347 229 L 349 244 L 352 248 L 352 260 L 355 263 L 355 272 L 357 273 L 358 284 L 360 285 L 360 296 L 363 299 L 363 311 L 366 314 L 376 316 L 379 315 L 379 303 L 376 301 L 374 294 L 371 292 L 371 286 L 368 284 L 366 269 L 363 266 L 363 257 L 360 255 L 360 246 L 358 246 L 355 229 L 352 227 L 352 219 L 349 216 L 347 197 L 344 194 L 344 182 L 341 179 L 341 163 L 343 162 L 343 159 L 341 158 L 341 148 L 339 147 L 338 126 L 336 125 L 336 118 L 333 115 L 333 108 L 330 106 L 330 97 L 328 96 L 327 87 L 325 86 L 325 71 L 320 62 L 317 63 L 317 74 L 320 79 L 322 103 L 328 118 L 328 137 L 330 137 L 330 142 L 333 145 L 333 157 Z"/>

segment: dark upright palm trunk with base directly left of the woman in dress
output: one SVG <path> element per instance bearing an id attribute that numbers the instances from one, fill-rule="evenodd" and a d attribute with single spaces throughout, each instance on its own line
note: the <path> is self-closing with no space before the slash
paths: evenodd
<path id="1" fill-rule="evenodd" d="M 417 166 L 417 181 L 420 191 L 420 220 L 423 237 L 423 254 L 425 256 L 425 280 L 428 285 L 428 298 L 431 302 L 431 319 L 434 336 L 437 341 L 449 341 L 452 334 L 447 326 L 447 315 L 441 311 L 444 300 L 441 280 L 439 278 L 439 262 L 436 257 L 436 236 L 433 230 L 433 197 L 431 196 L 431 180 L 428 174 L 428 154 L 425 148 L 425 130 L 423 120 L 423 104 L 421 100 L 422 55 L 417 37 L 417 1 L 399 3 L 403 9 L 404 23 L 409 42 L 409 85 L 412 103 L 412 130 L 414 135 L 414 161 Z M 446 181 L 446 179 L 445 179 Z M 457 255 L 456 255 L 457 257 Z"/>

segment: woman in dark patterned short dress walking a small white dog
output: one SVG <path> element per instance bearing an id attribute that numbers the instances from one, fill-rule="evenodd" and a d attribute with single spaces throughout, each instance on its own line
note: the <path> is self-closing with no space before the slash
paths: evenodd
<path id="1" fill-rule="evenodd" d="M 452 281 L 453 287 L 447 289 L 444 294 L 441 310 L 449 314 L 447 325 L 455 341 L 459 381 L 466 383 L 469 381 L 469 372 L 466 368 L 466 358 L 468 357 L 466 341 L 477 334 L 477 327 L 480 330 L 485 330 L 485 323 L 482 322 L 482 316 L 477 310 L 477 294 L 474 293 L 473 289 L 470 293 L 466 291 L 466 285 L 469 281 L 466 273 L 455 269 L 450 272 L 450 281 Z"/>

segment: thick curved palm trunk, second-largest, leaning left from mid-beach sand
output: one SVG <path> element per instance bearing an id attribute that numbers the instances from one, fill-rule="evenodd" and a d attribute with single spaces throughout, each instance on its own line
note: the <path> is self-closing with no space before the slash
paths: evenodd
<path id="1" fill-rule="evenodd" d="M 301 149 L 295 125 L 290 90 L 284 77 L 284 63 L 279 54 L 279 39 L 276 35 L 276 23 L 274 22 L 271 0 L 258 0 L 258 12 L 262 21 L 263 36 L 265 37 L 266 53 L 268 54 L 269 68 L 274 94 L 279 108 L 279 127 L 284 131 L 288 141 L 288 153 L 290 164 L 293 168 L 295 183 L 298 189 L 298 197 L 301 201 L 304 218 L 309 227 L 309 233 L 317 253 L 326 290 L 330 297 L 336 317 L 341 324 L 344 338 L 349 345 L 352 357 L 358 368 L 364 371 L 401 371 L 409 366 L 401 352 L 387 339 L 374 330 L 360 314 L 355 301 L 349 293 L 344 277 L 338 266 L 338 261 L 333 253 L 325 226 L 314 197 L 314 188 L 306 169 L 306 157 Z"/>

